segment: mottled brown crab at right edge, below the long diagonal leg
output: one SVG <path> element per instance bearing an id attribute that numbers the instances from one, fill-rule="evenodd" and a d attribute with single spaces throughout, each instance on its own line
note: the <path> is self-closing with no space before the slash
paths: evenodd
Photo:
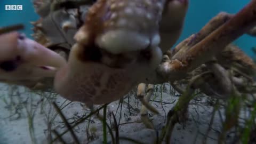
<path id="1" fill-rule="evenodd" d="M 202 81 L 197 81 L 193 87 L 211 97 L 230 98 L 234 86 L 239 92 L 248 93 L 247 88 L 254 83 L 252 77 L 256 66 L 253 60 L 234 44 L 226 46 L 215 60 L 205 65 L 199 67 L 199 71 L 193 71 L 191 77 L 209 70 L 211 73 L 202 77 Z"/>

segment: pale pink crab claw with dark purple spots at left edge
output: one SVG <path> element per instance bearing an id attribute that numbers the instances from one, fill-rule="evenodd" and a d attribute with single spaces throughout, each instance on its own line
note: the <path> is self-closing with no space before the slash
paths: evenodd
<path id="1" fill-rule="evenodd" d="M 59 54 L 18 32 L 0 35 L 0 82 L 26 85 L 54 77 L 66 65 Z"/>

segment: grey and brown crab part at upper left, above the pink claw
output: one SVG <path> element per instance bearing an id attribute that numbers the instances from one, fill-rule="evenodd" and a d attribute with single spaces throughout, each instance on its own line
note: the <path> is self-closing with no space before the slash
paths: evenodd
<path id="1" fill-rule="evenodd" d="M 83 25 L 85 15 L 91 5 L 82 5 L 76 9 L 60 9 L 50 12 L 51 1 L 35 0 L 35 12 L 41 17 L 30 22 L 36 42 L 61 54 L 65 59 L 71 46 L 75 44 L 74 35 Z M 78 9 L 79 8 L 79 9 Z"/>

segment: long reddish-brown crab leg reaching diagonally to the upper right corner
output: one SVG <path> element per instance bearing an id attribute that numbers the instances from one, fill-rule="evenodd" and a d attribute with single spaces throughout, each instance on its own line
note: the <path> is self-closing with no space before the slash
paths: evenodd
<path id="1" fill-rule="evenodd" d="M 177 54 L 169 60 L 167 58 L 167 61 L 162 62 L 158 67 L 158 74 L 164 76 L 163 79 L 173 82 L 212 59 L 229 43 L 256 25 L 255 7 L 256 1 L 253 0 L 209 36 L 191 46 L 186 53 Z"/>

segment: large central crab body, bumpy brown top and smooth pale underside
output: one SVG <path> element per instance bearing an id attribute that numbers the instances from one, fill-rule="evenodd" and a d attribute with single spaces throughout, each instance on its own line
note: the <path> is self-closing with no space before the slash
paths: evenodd
<path id="1" fill-rule="evenodd" d="M 163 3 L 147 2 L 102 0 L 91 7 L 75 35 L 68 65 L 55 77 L 62 97 L 89 106 L 115 101 L 159 65 L 155 20 L 160 20 Z"/>

